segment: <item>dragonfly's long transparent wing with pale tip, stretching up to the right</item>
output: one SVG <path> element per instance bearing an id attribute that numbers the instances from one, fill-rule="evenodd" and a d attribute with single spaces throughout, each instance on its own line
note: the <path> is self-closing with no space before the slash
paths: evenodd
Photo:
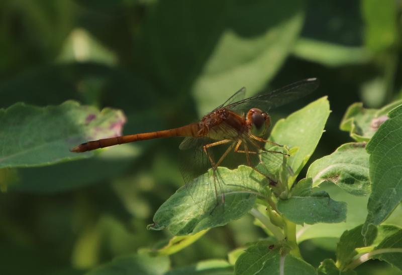
<path id="1" fill-rule="evenodd" d="M 263 111 L 279 107 L 293 100 L 308 95 L 318 88 L 320 81 L 317 78 L 308 78 L 292 84 L 286 85 L 277 90 L 270 91 L 261 95 L 249 97 L 227 105 L 224 108 L 235 112 L 246 112 L 251 108 L 259 108 Z"/>

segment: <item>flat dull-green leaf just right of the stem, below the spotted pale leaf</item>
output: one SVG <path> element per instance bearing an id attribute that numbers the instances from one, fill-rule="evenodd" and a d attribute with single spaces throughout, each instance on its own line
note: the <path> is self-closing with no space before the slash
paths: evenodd
<path id="1" fill-rule="evenodd" d="M 346 203 L 332 200 L 325 191 L 313 193 L 311 178 L 303 179 L 297 185 L 305 185 L 304 182 L 308 182 L 308 191 L 278 201 L 280 213 L 296 224 L 337 223 L 346 220 Z"/>

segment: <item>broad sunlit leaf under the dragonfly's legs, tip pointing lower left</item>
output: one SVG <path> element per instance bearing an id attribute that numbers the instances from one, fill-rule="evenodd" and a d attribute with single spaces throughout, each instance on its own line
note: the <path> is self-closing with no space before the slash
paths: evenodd
<path id="1" fill-rule="evenodd" d="M 263 176 L 247 166 L 235 170 L 219 167 L 215 178 L 210 169 L 164 202 L 148 228 L 167 228 L 174 235 L 186 235 L 225 225 L 250 211 L 257 194 L 264 196 L 263 181 Z M 221 195 L 217 198 L 214 183 L 224 203 Z"/>

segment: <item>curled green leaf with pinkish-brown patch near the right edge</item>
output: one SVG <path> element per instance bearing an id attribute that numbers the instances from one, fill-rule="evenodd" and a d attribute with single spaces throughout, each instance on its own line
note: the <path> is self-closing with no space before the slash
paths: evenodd
<path id="1" fill-rule="evenodd" d="M 353 103 L 346 110 L 340 128 L 349 131 L 352 139 L 357 142 L 368 142 L 378 127 L 388 119 L 387 113 L 402 104 L 402 100 L 390 103 L 381 109 L 363 108 L 363 103 Z"/>

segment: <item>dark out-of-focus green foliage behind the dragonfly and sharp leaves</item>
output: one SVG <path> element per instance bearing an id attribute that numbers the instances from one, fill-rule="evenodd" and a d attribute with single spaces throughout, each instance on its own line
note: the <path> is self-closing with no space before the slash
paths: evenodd
<path id="1" fill-rule="evenodd" d="M 319 77 L 314 95 L 273 112 L 283 117 L 329 96 L 333 112 L 313 161 L 350 141 L 339 123 L 351 103 L 379 107 L 402 97 L 401 10 L 396 0 L 3 0 L 0 106 L 74 99 L 120 108 L 128 134 L 197 120 L 242 86 L 253 95 Z M 146 225 L 182 185 L 179 142 L 0 170 L 0 273 L 82 274 L 165 242 L 168 232 Z M 263 236 L 246 216 L 211 230 L 171 264 L 226 258 Z M 334 257 L 335 243 L 307 240 L 302 252 L 317 266 Z M 397 273 L 376 261 L 358 271 Z"/>

